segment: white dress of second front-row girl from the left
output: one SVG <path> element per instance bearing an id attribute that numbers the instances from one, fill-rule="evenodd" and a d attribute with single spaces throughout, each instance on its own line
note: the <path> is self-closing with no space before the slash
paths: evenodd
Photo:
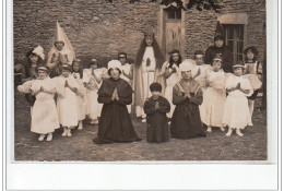
<path id="1" fill-rule="evenodd" d="M 75 79 L 70 74 L 68 77 L 62 75 L 54 79 L 56 83 L 57 97 L 57 110 L 59 115 L 59 122 L 62 127 L 75 127 L 78 126 L 78 106 L 76 94 L 69 87 L 66 87 L 66 81 L 72 87 L 79 89 L 79 84 Z"/>

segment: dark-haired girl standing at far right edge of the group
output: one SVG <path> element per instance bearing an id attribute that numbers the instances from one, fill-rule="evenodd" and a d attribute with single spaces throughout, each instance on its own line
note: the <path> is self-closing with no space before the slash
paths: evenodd
<path id="1" fill-rule="evenodd" d="M 248 97 L 249 111 L 252 117 L 255 108 L 255 99 L 259 93 L 259 89 L 262 85 L 261 75 L 262 75 L 262 64 L 257 60 L 258 49 L 256 47 L 248 47 L 245 51 L 245 73 L 250 81 L 250 84 L 253 88 L 253 94 Z"/>

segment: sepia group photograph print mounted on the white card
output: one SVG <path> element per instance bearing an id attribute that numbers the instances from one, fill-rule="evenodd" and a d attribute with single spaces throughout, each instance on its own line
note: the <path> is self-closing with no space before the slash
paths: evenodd
<path id="1" fill-rule="evenodd" d="M 13 0 L 13 160 L 267 162 L 267 3 Z"/>

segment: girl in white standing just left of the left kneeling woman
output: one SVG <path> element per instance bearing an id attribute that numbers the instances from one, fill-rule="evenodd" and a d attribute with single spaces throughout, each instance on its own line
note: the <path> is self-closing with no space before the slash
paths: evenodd
<path id="1" fill-rule="evenodd" d="M 97 102 L 97 91 L 99 89 L 103 81 L 103 69 L 97 68 L 97 60 L 92 59 L 91 69 L 85 69 L 83 72 L 83 83 L 86 87 L 86 97 L 88 105 L 88 118 L 91 119 L 91 124 L 98 123 L 98 117 L 100 117 L 102 104 Z"/>

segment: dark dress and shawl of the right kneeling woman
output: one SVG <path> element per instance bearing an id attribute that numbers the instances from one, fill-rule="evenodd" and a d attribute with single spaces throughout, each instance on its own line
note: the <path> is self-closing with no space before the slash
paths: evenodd
<path id="1" fill-rule="evenodd" d="M 190 95 L 190 98 L 186 96 Z M 173 89 L 173 104 L 176 105 L 171 118 L 170 134 L 175 139 L 191 139 L 205 136 L 200 119 L 199 105 L 202 104 L 202 89 L 200 84 L 191 80 L 181 80 Z"/>

